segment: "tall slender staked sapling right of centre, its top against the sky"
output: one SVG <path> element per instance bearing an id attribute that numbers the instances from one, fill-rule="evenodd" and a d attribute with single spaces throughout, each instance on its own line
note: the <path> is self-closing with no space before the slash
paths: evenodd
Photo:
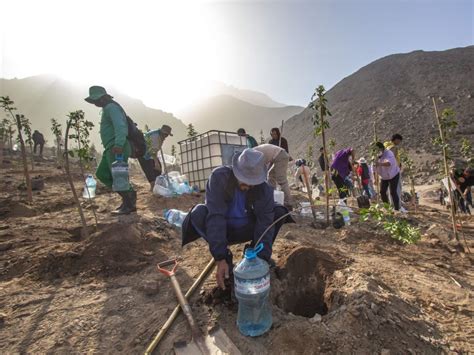
<path id="1" fill-rule="evenodd" d="M 323 140 L 323 156 L 324 156 L 324 189 L 326 191 L 326 223 L 329 225 L 329 160 L 328 160 L 328 147 L 326 145 L 326 134 L 325 131 L 329 129 L 329 122 L 326 117 L 331 116 L 331 112 L 327 107 L 326 90 L 323 85 L 316 88 L 309 107 L 314 111 L 313 113 L 313 125 L 314 134 L 321 135 Z M 313 205 L 313 203 L 311 203 Z M 316 222 L 316 213 L 312 208 L 313 217 Z"/>

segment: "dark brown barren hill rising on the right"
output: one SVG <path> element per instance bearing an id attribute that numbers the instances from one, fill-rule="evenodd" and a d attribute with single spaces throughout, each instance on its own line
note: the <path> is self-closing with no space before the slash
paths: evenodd
<path id="1" fill-rule="evenodd" d="M 336 149 L 353 146 L 366 153 L 376 120 L 379 139 L 400 133 L 405 147 L 429 155 L 434 153 L 431 137 L 438 132 L 430 96 L 441 99 L 440 111 L 451 107 L 456 112 L 459 140 L 466 137 L 473 142 L 473 95 L 474 46 L 389 55 L 328 91 L 333 115 L 328 136 L 336 140 Z M 313 136 L 311 116 L 306 108 L 285 123 L 291 149 L 302 155 L 309 145 L 314 145 L 315 152 L 321 145 L 321 138 Z"/>

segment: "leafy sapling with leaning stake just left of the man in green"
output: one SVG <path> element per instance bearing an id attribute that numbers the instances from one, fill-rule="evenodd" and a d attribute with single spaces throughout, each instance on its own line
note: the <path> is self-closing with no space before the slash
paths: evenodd
<path id="1" fill-rule="evenodd" d="M 66 132 L 64 135 L 64 157 L 65 157 L 65 170 L 66 175 L 69 181 L 69 185 L 72 190 L 72 195 L 74 198 L 74 202 L 76 203 L 77 210 L 79 212 L 79 216 L 81 218 L 82 230 L 81 235 L 82 237 L 88 237 L 89 232 L 87 230 L 87 222 L 84 216 L 84 211 L 82 210 L 81 203 L 79 201 L 79 197 L 77 196 L 76 189 L 74 187 L 74 182 L 71 175 L 71 169 L 69 164 L 69 158 L 74 157 L 77 155 L 79 158 L 79 166 L 81 169 L 82 176 L 84 177 L 84 163 L 88 164 L 92 160 L 89 152 L 89 132 L 94 127 L 92 122 L 85 120 L 84 118 L 84 111 L 74 111 L 69 113 L 68 120 L 66 124 Z M 72 133 L 70 133 L 72 131 Z M 77 143 L 76 151 L 69 150 L 69 139 L 73 139 Z M 94 213 L 94 218 L 97 227 L 97 216 L 95 213 L 95 208 L 92 205 L 92 211 Z"/>

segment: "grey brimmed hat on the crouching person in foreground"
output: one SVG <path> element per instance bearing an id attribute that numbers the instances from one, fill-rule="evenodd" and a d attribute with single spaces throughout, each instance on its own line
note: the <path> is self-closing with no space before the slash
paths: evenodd
<path id="1" fill-rule="evenodd" d="M 262 152 L 247 148 L 232 158 L 232 171 L 240 182 L 256 186 L 267 180 L 267 168 Z"/>

